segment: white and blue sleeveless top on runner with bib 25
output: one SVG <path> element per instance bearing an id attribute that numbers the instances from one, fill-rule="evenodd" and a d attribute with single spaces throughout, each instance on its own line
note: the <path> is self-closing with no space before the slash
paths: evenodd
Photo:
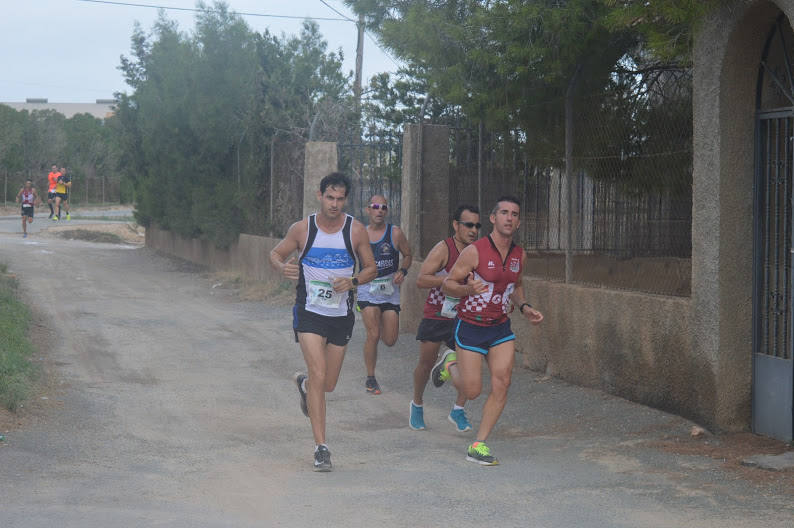
<path id="1" fill-rule="evenodd" d="M 353 290 L 337 293 L 333 280 L 352 277 L 356 265 L 350 230 L 353 217 L 345 215 L 345 224 L 335 233 L 317 227 L 316 214 L 309 216 L 309 231 L 300 260 L 300 276 L 295 304 L 309 312 L 328 317 L 350 315 Z"/>

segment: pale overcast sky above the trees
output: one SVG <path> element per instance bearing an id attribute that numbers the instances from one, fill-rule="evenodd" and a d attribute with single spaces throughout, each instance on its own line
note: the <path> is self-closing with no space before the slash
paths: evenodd
<path id="1" fill-rule="evenodd" d="M 195 7 L 194 0 L 119 0 L 169 7 Z M 341 0 L 326 0 L 353 17 Z M 320 0 L 228 0 L 234 11 L 299 17 L 338 15 Z M 0 15 L 0 101 L 46 97 L 50 102 L 93 102 L 112 97 L 127 86 L 116 68 L 129 55 L 137 20 L 150 29 L 157 9 L 115 6 L 78 0 L 2 0 Z M 167 11 L 183 30 L 193 27 L 195 13 Z M 296 34 L 300 20 L 245 17 L 255 31 Z M 350 22 L 319 21 L 331 49 L 342 48 L 345 70 L 355 68 L 356 27 Z M 372 39 L 364 41 L 364 79 L 397 67 Z"/>

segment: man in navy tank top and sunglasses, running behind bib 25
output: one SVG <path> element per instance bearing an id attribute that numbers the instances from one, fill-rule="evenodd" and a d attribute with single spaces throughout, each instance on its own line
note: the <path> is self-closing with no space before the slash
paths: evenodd
<path id="1" fill-rule="evenodd" d="M 386 198 L 375 195 L 367 207 L 369 225 L 367 236 L 378 266 L 378 276 L 371 283 L 358 288 L 358 309 L 367 329 L 364 341 L 364 365 L 367 380 L 364 387 L 370 394 L 380 394 L 375 379 L 378 361 L 378 342 L 393 346 L 400 331 L 400 285 L 411 266 L 411 248 L 402 230 L 386 222 L 389 206 Z M 402 254 L 402 267 L 400 266 Z"/>

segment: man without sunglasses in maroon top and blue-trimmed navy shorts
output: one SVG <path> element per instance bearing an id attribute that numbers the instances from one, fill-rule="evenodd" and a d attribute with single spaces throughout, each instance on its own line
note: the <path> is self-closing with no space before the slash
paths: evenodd
<path id="1" fill-rule="evenodd" d="M 493 231 L 461 252 L 441 286 L 445 294 L 461 298 L 455 345 L 463 394 L 470 400 L 480 395 L 483 358 L 491 371 L 491 393 L 483 407 L 477 441 L 469 446 L 466 456 L 488 466 L 499 463 L 485 441 L 507 402 L 515 360 L 515 334 L 508 313 L 517 306 L 532 324 L 543 321 L 543 314 L 526 302 L 521 284 L 524 251 L 513 243 L 520 207 L 518 199 L 511 196 L 497 200 L 490 217 Z M 448 371 L 452 365 L 450 361 L 443 369 Z"/>

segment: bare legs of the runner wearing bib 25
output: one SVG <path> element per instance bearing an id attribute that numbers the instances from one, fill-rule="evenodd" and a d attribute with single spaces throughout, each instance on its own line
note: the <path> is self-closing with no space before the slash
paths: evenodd
<path id="1" fill-rule="evenodd" d="M 339 371 L 345 357 L 345 347 L 326 344 L 326 339 L 317 334 L 299 333 L 303 358 L 306 361 L 306 402 L 312 424 L 314 442 L 325 443 L 325 393 L 336 388 Z"/>

